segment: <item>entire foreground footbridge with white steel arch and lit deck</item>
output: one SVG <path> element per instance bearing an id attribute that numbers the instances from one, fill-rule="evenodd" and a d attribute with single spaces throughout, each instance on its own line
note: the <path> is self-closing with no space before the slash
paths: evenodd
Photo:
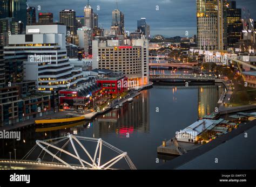
<path id="1" fill-rule="evenodd" d="M 92 145 L 91 145 L 92 144 Z M 85 146 L 92 146 L 89 150 Z M 96 146 L 96 148 L 95 148 Z M 39 148 L 41 153 L 35 159 L 29 159 L 32 152 Z M 104 154 L 103 154 L 104 150 Z M 106 153 L 111 151 L 111 154 Z M 105 156 L 109 155 L 109 158 Z M 113 156 L 112 156 L 113 155 Z M 75 159 L 70 163 L 67 157 Z M 102 139 L 86 138 L 68 134 L 68 136 L 37 140 L 36 145 L 23 157 L 22 160 L 0 160 L 0 169 L 73 169 L 73 170 L 113 170 L 120 161 L 126 162 L 130 169 L 136 169 L 126 152 L 110 145 Z M 124 166 L 124 164 L 122 164 Z"/>

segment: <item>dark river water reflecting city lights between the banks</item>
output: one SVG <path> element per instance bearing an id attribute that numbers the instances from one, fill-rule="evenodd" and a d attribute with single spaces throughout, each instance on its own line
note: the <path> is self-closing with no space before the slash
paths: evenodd
<path id="1" fill-rule="evenodd" d="M 198 117 L 213 112 L 220 94 L 221 89 L 217 86 L 185 88 L 156 85 L 142 91 L 133 103 L 125 104 L 121 109 L 112 110 L 95 120 L 53 131 L 35 132 L 31 128 L 22 132 L 22 140 L 26 143 L 1 140 L 3 149 L 0 155 L 9 158 L 9 152 L 14 152 L 15 146 L 17 158 L 21 159 L 38 139 L 75 133 L 102 138 L 127 152 L 138 169 L 154 169 L 163 163 L 156 163 L 157 147 L 161 141 L 172 138 L 177 131 L 191 125 Z"/>

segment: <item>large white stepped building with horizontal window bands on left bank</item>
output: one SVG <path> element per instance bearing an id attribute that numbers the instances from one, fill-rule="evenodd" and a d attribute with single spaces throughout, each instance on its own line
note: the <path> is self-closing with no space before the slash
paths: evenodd
<path id="1" fill-rule="evenodd" d="M 26 34 L 11 35 L 4 47 L 5 59 L 24 64 L 24 80 L 36 80 L 39 91 L 58 91 L 76 85 L 83 77 L 82 69 L 70 64 L 66 51 L 66 26 L 26 26 Z"/>

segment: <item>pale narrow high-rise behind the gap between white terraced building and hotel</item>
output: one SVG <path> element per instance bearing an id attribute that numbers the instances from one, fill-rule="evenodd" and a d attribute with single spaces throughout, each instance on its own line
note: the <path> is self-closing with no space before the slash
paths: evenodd
<path id="1" fill-rule="evenodd" d="M 92 30 L 89 27 L 78 28 L 79 47 L 84 48 L 85 56 L 90 54 L 92 46 Z"/>

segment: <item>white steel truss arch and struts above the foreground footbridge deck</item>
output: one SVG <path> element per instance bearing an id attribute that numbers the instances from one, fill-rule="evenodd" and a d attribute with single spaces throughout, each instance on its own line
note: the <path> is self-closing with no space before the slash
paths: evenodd
<path id="1" fill-rule="evenodd" d="M 57 140 L 57 141 L 55 141 L 55 140 Z M 56 146 L 57 143 L 65 141 L 65 140 L 66 140 L 66 142 L 63 147 L 59 148 Z M 53 142 L 53 141 L 55 141 L 55 142 Z M 81 141 L 97 142 L 96 150 L 95 150 L 95 153 L 93 156 L 87 151 L 87 149 L 83 146 Z M 75 142 L 78 143 L 79 147 L 75 146 Z M 66 145 L 68 145 L 69 143 L 71 143 L 72 148 L 75 151 L 75 154 L 71 154 L 70 152 L 64 150 Z M 48 153 L 49 155 L 51 155 L 53 157 L 53 160 L 56 159 L 59 162 L 63 163 L 65 166 L 67 166 L 73 170 L 76 170 L 77 168 L 94 169 L 94 170 L 112 169 L 111 167 L 113 167 L 114 164 L 116 164 L 117 162 L 119 162 L 122 159 L 125 159 L 126 163 L 129 165 L 130 169 L 136 169 L 136 167 L 134 166 L 134 164 L 132 163 L 130 157 L 127 155 L 126 152 L 123 152 L 122 150 L 110 145 L 109 143 L 103 141 L 102 139 L 86 138 L 86 137 L 82 137 L 82 136 L 75 136 L 72 134 L 68 134 L 68 136 L 64 136 L 62 138 L 49 139 L 49 140 L 45 140 L 45 141 L 37 140 L 36 146 L 39 146 L 40 148 L 42 148 L 42 152 L 45 152 L 45 153 Z M 34 146 L 30 150 L 30 152 L 25 156 L 26 158 L 32 153 L 32 151 L 35 149 L 36 146 Z M 107 161 L 106 163 L 102 163 L 102 148 L 103 148 L 103 146 L 110 148 L 111 150 L 118 153 L 119 155 L 114 157 L 113 159 Z M 49 150 L 49 147 L 56 149 L 57 153 L 53 154 Z M 87 162 L 84 159 L 82 159 L 82 157 L 80 157 L 80 155 L 77 151 L 78 148 L 79 148 L 79 150 L 83 150 L 83 152 L 89 157 L 90 161 Z M 42 152 L 41 152 L 41 154 L 42 154 Z M 80 163 L 79 167 L 72 166 L 72 164 L 65 162 L 63 159 L 61 159 L 60 155 L 63 153 L 77 159 Z M 57 156 L 57 154 L 59 154 L 59 156 Z M 39 158 L 39 156 L 38 156 L 38 159 L 41 160 Z"/>

